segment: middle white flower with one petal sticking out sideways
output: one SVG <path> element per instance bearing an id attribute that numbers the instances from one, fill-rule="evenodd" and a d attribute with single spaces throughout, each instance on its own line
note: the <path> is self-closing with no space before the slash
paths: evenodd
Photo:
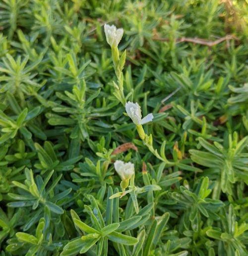
<path id="1" fill-rule="evenodd" d="M 128 101 L 125 103 L 125 111 L 136 125 L 148 123 L 153 119 L 153 114 L 151 113 L 141 119 L 141 108 L 138 103 Z"/>

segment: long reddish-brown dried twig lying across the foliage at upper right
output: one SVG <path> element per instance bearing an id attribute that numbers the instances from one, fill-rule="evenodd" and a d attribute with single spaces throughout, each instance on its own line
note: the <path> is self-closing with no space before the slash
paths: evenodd
<path id="1" fill-rule="evenodd" d="M 159 37 L 153 37 L 154 40 L 158 40 L 158 41 L 169 41 L 170 39 L 169 38 L 159 38 Z M 177 43 L 183 43 L 183 42 L 190 42 L 190 43 L 195 43 L 195 44 L 202 44 L 202 45 L 206 45 L 206 46 L 209 46 L 209 47 L 212 47 L 216 44 L 219 44 L 223 41 L 226 41 L 226 40 L 231 40 L 231 39 L 235 39 L 235 40 L 238 40 L 238 38 L 234 35 L 226 35 L 224 37 L 221 37 L 215 41 L 208 41 L 206 39 L 202 39 L 202 38 L 198 38 L 198 37 L 194 37 L 194 38 L 191 38 L 191 37 L 182 37 L 182 38 L 178 38 L 176 40 Z"/>

